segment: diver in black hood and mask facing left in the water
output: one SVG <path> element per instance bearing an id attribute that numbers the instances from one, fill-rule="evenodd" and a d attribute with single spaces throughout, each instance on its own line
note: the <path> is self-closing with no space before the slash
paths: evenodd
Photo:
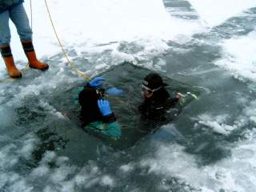
<path id="1" fill-rule="evenodd" d="M 165 86 L 167 84 L 162 82 L 159 74 L 148 74 L 144 78 L 141 88 L 145 99 L 142 105 L 138 106 L 142 118 L 160 122 L 166 120 L 166 110 L 178 102 L 179 97 L 176 95 L 175 98 L 171 98 Z"/>

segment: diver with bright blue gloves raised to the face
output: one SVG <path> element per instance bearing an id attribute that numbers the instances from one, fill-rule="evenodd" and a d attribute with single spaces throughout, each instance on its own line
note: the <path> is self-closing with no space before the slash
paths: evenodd
<path id="1" fill-rule="evenodd" d="M 78 95 L 81 105 L 80 120 L 82 128 L 89 134 L 96 134 L 104 138 L 117 140 L 122 137 L 122 129 L 110 108 L 110 102 L 104 98 L 108 95 L 118 96 L 123 90 L 111 87 L 102 88 L 105 78 L 96 77 L 90 80 Z"/>

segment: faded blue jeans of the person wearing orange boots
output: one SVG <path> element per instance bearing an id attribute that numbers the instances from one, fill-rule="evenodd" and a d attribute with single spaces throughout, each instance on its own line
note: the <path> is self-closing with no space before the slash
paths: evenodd
<path id="1" fill-rule="evenodd" d="M 26 15 L 26 10 L 24 9 L 23 4 L 19 4 L 0 14 L 0 46 L 10 45 L 9 18 L 14 22 L 21 41 L 32 41 L 32 30 Z"/>

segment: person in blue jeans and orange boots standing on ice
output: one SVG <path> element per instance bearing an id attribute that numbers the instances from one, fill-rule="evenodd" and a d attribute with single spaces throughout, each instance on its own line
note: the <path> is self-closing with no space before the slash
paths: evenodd
<path id="1" fill-rule="evenodd" d="M 9 19 L 16 26 L 30 68 L 37 70 L 47 70 L 49 68 L 46 63 L 38 61 L 34 52 L 32 30 L 26 10 L 22 4 L 23 2 L 24 0 L 0 0 L 0 49 L 2 58 L 6 63 L 6 69 L 11 78 L 22 78 L 22 73 L 16 68 L 10 49 Z"/>

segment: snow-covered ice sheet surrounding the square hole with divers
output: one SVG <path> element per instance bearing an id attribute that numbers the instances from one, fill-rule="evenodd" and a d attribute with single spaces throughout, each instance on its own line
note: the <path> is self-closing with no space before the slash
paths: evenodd
<path id="1" fill-rule="evenodd" d="M 133 62 L 207 94 L 136 146 L 106 146 L 66 117 L 72 109 L 59 95 L 85 81 L 63 57 L 44 1 L 33 1 L 34 46 L 50 70 L 0 84 L 0 191 L 256 190 L 254 0 L 48 3 L 79 70 L 97 75 Z M 25 55 L 11 29 L 22 69 Z"/>

